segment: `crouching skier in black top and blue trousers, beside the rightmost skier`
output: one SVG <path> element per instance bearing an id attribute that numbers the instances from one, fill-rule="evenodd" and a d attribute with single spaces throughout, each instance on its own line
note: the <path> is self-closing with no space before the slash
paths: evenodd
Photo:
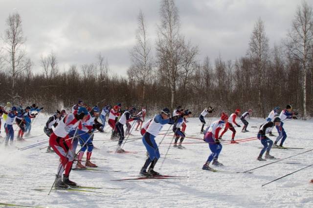
<path id="1" fill-rule="evenodd" d="M 261 150 L 257 160 L 258 161 L 266 161 L 266 159 L 275 159 L 274 156 L 271 156 L 269 154 L 270 148 L 273 145 L 273 141 L 271 141 L 267 136 L 266 136 L 266 132 L 267 129 L 271 129 L 274 125 L 275 126 L 279 126 L 281 123 L 281 120 L 279 117 L 274 118 L 273 122 L 271 121 L 267 121 L 265 124 L 261 125 L 259 133 L 257 135 L 258 139 L 261 141 L 262 145 L 264 146 L 263 149 Z M 265 153 L 265 159 L 262 158 L 264 152 Z"/>

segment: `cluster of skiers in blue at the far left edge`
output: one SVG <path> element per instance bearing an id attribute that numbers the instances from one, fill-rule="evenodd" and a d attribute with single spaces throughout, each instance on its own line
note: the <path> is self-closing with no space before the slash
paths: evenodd
<path id="1" fill-rule="evenodd" d="M 12 144 L 14 139 L 14 129 L 13 124 L 19 126 L 19 132 L 17 136 L 18 141 L 23 141 L 23 135 L 30 135 L 31 130 L 31 119 L 36 118 L 38 113 L 44 109 L 43 107 L 39 108 L 36 104 L 32 104 L 31 106 L 27 106 L 25 108 L 22 105 L 16 107 L 12 106 L 10 102 L 7 102 L 4 107 L 0 106 L 0 118 L 3 117 L 4 121 L 4 129 L 6 133 L 5 137 L 5 145 L 7 146 L 9 141 Z M 0 119 L 0 133 L 1 133 L 1 120 Z"/>

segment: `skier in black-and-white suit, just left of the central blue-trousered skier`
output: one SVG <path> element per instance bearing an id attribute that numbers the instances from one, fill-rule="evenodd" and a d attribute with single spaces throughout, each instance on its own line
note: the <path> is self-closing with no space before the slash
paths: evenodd
<path id="1" fill-rule="evenodd" d="M 121 148 L 121 145 L 123 144 L 123 141 L 125 138 L 124 125 L 126 125 L 127 122 L 131 122 L 131 121 L 139 119 L 139 117 L 132 117 L 135 111 L 136 111 L 136 108 L 131 108 L 131 110 L 128 110 L 128 109 L 125 110 L 125 112 L 121 115 L 118 122 L 115 124 L 115 129 L 117 130 L 117 134 L 119 136 L 118 146 L 116 149 L 117 153 L 125 152 L 125 150 Z"/>

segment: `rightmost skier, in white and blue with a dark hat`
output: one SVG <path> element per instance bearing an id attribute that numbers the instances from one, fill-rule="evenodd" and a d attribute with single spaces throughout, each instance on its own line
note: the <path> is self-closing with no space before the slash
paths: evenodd
<path id="1" fill-rule="evenodd" d="M 276 125 L 276 129 L 277 129 L 277 132 L 279 133 L 279 135 L 276 138 L 276 141 L 274 142 L 274 146 L 275 147 L 283 147 L 283 144 L 284 144 L 284 142 L 285 142 L 285 140 L 287 138 L 286 131 L 285 131 L 284 127 L 283 127 L 283 125 L 284 125 L 283 121 L 288 120 L 288 119 L 297 119 L 297 117 L 295 115 L 297 115 L 298 113 L 293 113 L 291 111 L 292 111 L 292 107 L 291 107 L 290 104 L 288 104 L 286 106 L 286 109 L 284 109 L 284 110 L 282 110 L 282 112 L 280 112 L 279 118 L 280 118 L 281 122 L 280 122 L 280 125 Z M 277 146 L 277 142 L 280 139 L 282 141 L 280 142 L 280 145 Z"/>

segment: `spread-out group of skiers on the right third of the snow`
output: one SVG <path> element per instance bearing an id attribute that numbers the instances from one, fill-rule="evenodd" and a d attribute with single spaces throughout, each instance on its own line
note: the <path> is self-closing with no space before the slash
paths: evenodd
<path id="1" fill-rule="evenodd" d="M 210 111 L 208 111 L 210 109 Z M 211 154 L 209 155 L 206 163 L 203 165 L 202 169 L 204 170 L 212 170 L 212 168 L 209 166 L 209 164 L 212 162 L 212 165 L 215 166 L 223 166 L 222 163 L 218 161 L 219 154 L 222 150 L 222 145 L 220 141 L 222 141 L 222 136 L 224 133 L 230 129 L 232 133 L 231 137 L 231 144 L 237 144 L 235 141 L 235 134 L 236 130 L 234 128 L 234 125 L 237 127 L 241 127 L 239 124 L 236 123 L 237 116 L 240 115 L 240 109 L 236 109 L 234 113 L 232 113 L 229 117 L 226 113 L 221 114 L 221 118 L 218 121 L 213 122 L 211 125 L 207 127 L 205 131 L 203 131 L 203 126 L 205 125 L 204 116 L 207 112 L 212 113 L 212 107 L 209 107 L 208 109 L 204 109 L 202 113 L 200 114 L 200 121 L 202 123 L 201 127 L 201 133 L 204 133 L 204 141 L 209 144 L 209 149 L 211 150 Z M 268 115 L 268 118 L 266 119 L 266 122 L 260 126 L 257 138 L 261 141 L 261 144 L 263 145 L 263 148 L 257 157 L 258 161 L 266 161 L 266 159 L 276 159 L 274 156 L 269 154 L 269 151 L 272 146 L 275 146 L 276 148 L 283 148 L 283 144 L 287 138 L 286 131 L 283 127 L 284 121 L 290 120 L 290 119 L 297 119 L 296 112 L 292 112 L 292 107 L 290 104 L 287 104 L 286 108 L 281 111 L 281 113 L 278 116 L 278 110 L 279 107 L 275 107 Z M 249 109 L 245 113 L 243 113 L 240 116 L 241 122 L 244 124 L 242 132 L 248 132 L 246 129 L 248 126 L 248 122 L 246 121 L 246 118 L 252 113 L 252 110 Z M 272 140 L 270 140 L 266 133 L 269 133 L 269 136 L 274 136 L 272 134 L 272 128 L 276 126 L 278 137 L 276 138 L 276 141 L 273 143 Z M 220 131 L 224 128 L 224 131 L 219 135 Z M 281 140 L 280 145 L 277 146 L 277 143 Z M 264 152 L 265 159 L 262 158 Z"/>

